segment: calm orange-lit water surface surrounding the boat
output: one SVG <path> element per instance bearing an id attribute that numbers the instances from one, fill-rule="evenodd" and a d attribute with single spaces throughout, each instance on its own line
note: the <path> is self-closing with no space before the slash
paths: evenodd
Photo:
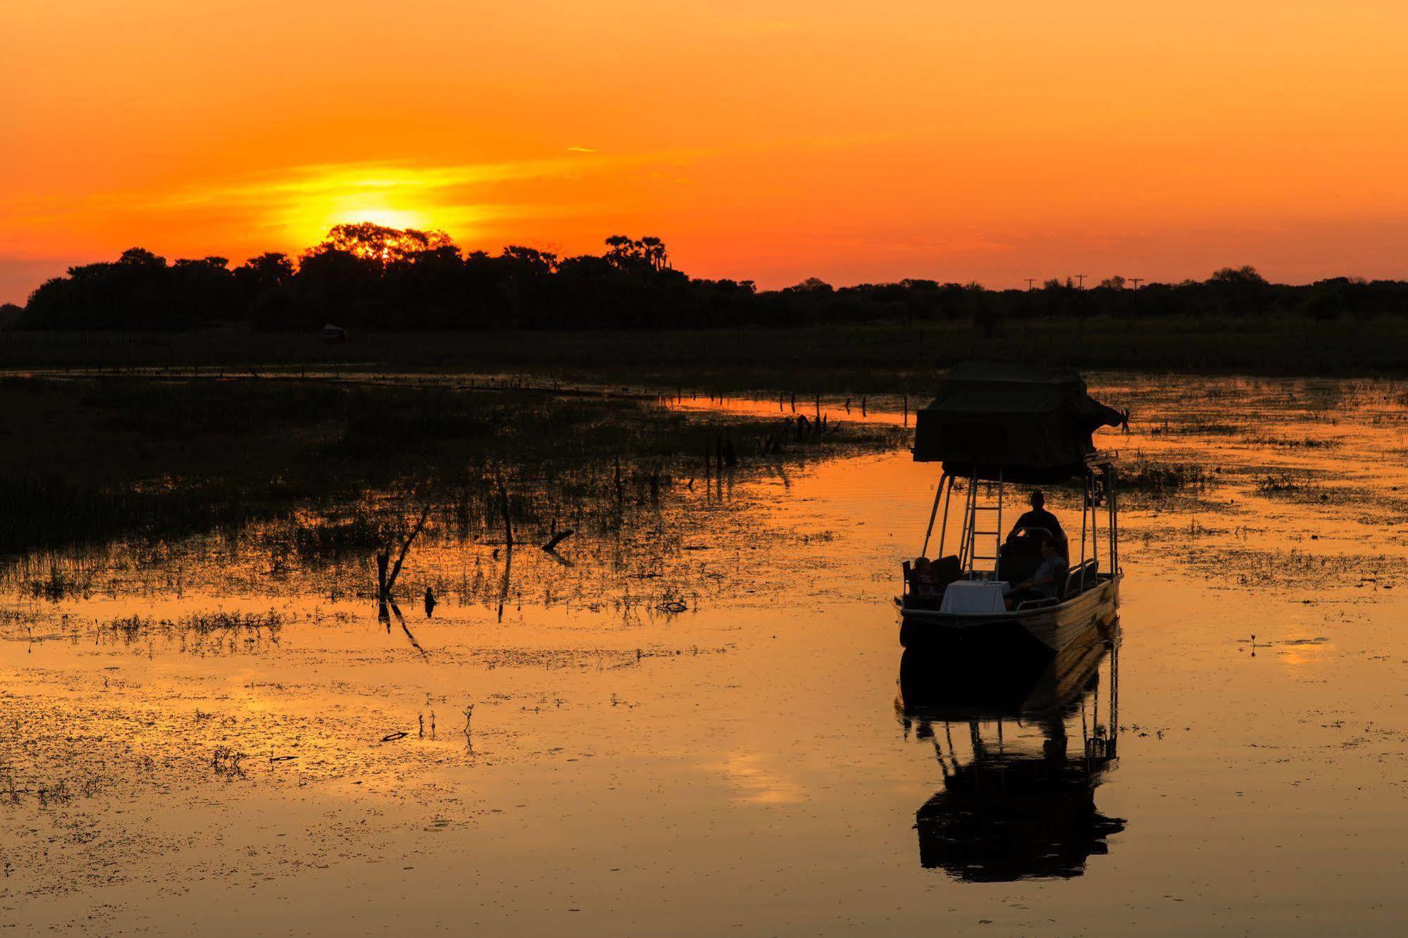
<path id="1" fill-rule="evenodd" d="M 1125 496 L 1115 654 L 997 701 L 898 683 L 904 452 L 698 486 L 570 565 L 429 537 L 404 621 L 276 532 L 31 558 L 0 925 L 1401 934 L 1408 387 L 1091 383 L 1133 410 L 1102 445 L 1211 483 Z M 280 627 L 179 624 L 217 611 Z"/>

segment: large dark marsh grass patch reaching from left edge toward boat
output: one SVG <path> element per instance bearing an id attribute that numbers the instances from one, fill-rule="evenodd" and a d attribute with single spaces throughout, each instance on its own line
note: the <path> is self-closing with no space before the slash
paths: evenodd
<path id="1" fill-rule="evenodd" d="M 503 521 L 493 483 L 504 477 L 514 523 L 535 535 L 611 530 L 634 506 L 717 479 L 705 454 L 725 442 L 742 476 L 903 437 L 867 424 L 788 437 L 780 421 L 639 397 L 253 377 L 4 380 L 0 403 L 25 442 L 0 455 L 0 554 L 291 521 L 272 572 L 290 554 L 384 541 L 404 504 L 384 518 L 339 511 L 387 493 L 431 501 L 446 530 L 480 535 Z"/>

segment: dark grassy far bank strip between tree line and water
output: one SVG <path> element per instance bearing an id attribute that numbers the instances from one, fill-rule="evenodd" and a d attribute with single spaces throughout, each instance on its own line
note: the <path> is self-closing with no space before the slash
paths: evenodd
<path id="1" fill-rule="evenodd" d="M 531 375 L 705 393 L 925 394 L 963 359 L 1080 370 L 1405 376 L 1408 323 L 1107 318 L 788 330 L 321 334 L 0 332 L 0 369 Z"/>

